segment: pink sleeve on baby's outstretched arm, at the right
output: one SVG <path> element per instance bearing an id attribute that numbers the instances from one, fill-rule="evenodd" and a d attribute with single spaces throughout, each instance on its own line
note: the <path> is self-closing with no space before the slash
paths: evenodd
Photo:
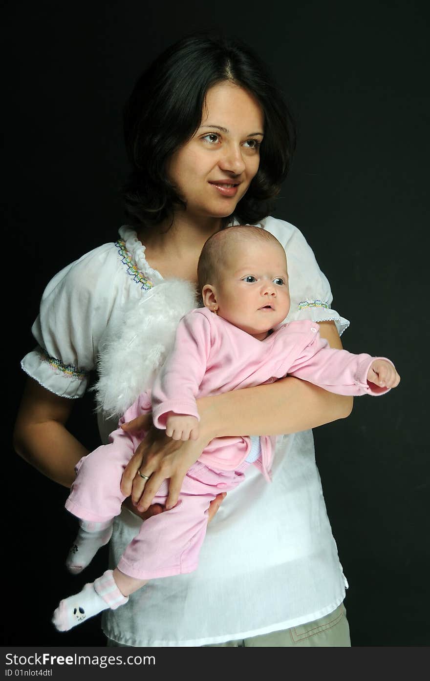
<path id="1" fill-rule="evenodd" d="M 314 328 L 317 326 L 314 324 Z M 333 349 L 316 330 L 309 345 L 288 369 L 288 375 L 338 395 L 377 396 L 389 389 L 367 381 L 367 373 L 374 360 L 390 362 L 385 357 L 371 357 L 365 353 L 354 355 L 347 350 Z"/>

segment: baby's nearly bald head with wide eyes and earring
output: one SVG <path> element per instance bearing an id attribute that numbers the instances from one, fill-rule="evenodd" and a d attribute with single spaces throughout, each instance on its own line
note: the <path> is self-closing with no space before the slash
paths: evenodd
<path id="1" fill-rule="evenodd" d="M 204 306 L 258 340 L 290 310 L 285 251 L 261 227 L 213 234 L 200 254 L 198 284 Z"/>

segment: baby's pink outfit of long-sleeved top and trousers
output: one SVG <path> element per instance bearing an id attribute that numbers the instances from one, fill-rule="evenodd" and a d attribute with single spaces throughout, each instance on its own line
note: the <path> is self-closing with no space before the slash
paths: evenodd
<path id="1" fill-rule="evenodd" d="M 313 321 L 283 324 L 261 341 L 198 308 L 179 323 L 174 349 L 155 379 L 152 403 L 149 393 L 140 394 L 120 424 L 151 409 L 159 428 L 165 428 L 171 411 L 199 418 L 196 398 L 271 383 L 287 374 L 338 394 L 382 394 L 386 388 L 367 383 L 374 359 L 331 349 Z M 82 520 L 102 522 L 119 515 L 125 498 L 119 489 L 121 476 L 142 437 L 144 432 L 132 435 L 119 428 L 110 435 L 109 445 L 82 458 L 65 507 Z M 274 440 L 260 438 L 262 455 L 256 462 L 268 479 Z M 243 480 L 249 449 L 246 436 L 213 440 L 187 471 L 178 504 L 142 524 L 119 569 L 142 580 L 195 570 L 209 504 L 220 491 L 232 490 Z M 164 481 L 153 503 L 164 504 L 167 493 Z"/>

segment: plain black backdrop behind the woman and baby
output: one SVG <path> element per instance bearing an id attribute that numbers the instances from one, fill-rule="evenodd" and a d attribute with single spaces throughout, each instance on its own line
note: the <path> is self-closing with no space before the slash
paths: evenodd
<path id="1" fill-rule="evenodd" d="M 350 582 L 352 645 L 429 644 L 427 12 L 413 1 L 9 3 L 4 644 L 104 644 L 99 618 L 65 634 L 49 622 L 61 597 L 104 569 L 106 552 L 85 577 L 63 567 L 75 529 L 67 492 L 10 443 L 24 383 L 18 360 L 33 347 L 29 330 L 50 277 L 115 240 L 123 223 L 123 101 L 147 61 L 195 29 L 237 35 L 270 65 L 298 122 L 274 215 L 315 251 L 333 307 L 351 321 L 344 346 L 390 357 L 402 377 L 388 396 L 357 398 L 348 419 L 314 431 Z M 91 409 L 91 398 L 79 400 L 70 424 L 90 448 Z"/>

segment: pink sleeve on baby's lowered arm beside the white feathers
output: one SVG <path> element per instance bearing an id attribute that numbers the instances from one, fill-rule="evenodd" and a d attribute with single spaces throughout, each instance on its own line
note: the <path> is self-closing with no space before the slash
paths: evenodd
<path id="1" fill-rule="evenodd" d="M 210 349 L 209 320 L 198 312 L 185 315 L 176 330 L 173 350 L 153 385 L 153 422 L 157 428 L 166 428 L 170 411 L 200 420 L 196 395 L 206 372 Z"/>

